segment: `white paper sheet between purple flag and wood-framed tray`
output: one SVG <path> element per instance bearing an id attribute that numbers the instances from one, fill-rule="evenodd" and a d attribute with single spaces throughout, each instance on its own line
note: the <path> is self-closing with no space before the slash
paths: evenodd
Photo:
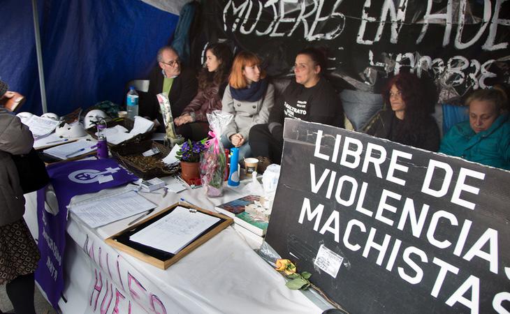
<path id="1" fill-rule="evenodd" d="M 91 202 L 78 203 L 68 209 L 89 227 L 95 228 L 155 207 L 156 204 L 138 195 L 134 190 L 126 190 Z"/>

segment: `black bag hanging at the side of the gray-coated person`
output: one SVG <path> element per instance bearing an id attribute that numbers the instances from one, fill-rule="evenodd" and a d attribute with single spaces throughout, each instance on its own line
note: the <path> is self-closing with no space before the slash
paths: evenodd
<path id="1" fill-rule="evenodd" d="M 16 164 L 17 174 L 20 177 L 20 186 L 23 193 L 30 193 L 44 188 L 50 182 L 46 165 L 35 149 L 32 149 L 26 155 L 13 155 L 13 160 Z"/>

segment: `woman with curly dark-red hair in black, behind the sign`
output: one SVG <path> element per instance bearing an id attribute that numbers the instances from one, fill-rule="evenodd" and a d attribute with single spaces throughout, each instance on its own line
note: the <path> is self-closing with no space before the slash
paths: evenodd
<path id="1" fill-rule="evenodd" d="M 425 91 L 422 82 L 411 73 L 395 75 L 382 95 L 390 108 L 377 112 L 364 132 L 429 151 L 439 149 L 439 128 L 432 117 L 432 91 Z M 425 94 L 427 93 L 427 94 Z"/>

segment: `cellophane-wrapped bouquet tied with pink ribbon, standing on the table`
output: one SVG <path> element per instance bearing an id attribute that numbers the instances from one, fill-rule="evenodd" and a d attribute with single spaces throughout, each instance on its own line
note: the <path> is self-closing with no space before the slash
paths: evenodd
<path id="1" fill-rule="evenodd" d="M 207 140 L 204 152 L 200 162 L 200 176 L 202 184 L 205 185 L 207 196 L 218 197 L 223 195 L 223 182 L 225 178 L 226 156 L 219 136 L 223 133 L 225 127 L 232 120 L 232 114 L 214 110 L 207 114 L 207 120 L 211 131 L 210 140 Z"/>

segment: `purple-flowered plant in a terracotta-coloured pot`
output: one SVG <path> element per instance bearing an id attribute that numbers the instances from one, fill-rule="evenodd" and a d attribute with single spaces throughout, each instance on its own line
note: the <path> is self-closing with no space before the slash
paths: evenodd
<path id="1" fill-rule="evenodd" d="M 182 143 L 179 151 L 175 154 L 176 158 L 181 162 L 181 175 L 182 179 L 189 185 L 197 185 L 200 180 L 200 157 L 202 151 L 205 150 L 205 139 L 198 142 Z"/>

